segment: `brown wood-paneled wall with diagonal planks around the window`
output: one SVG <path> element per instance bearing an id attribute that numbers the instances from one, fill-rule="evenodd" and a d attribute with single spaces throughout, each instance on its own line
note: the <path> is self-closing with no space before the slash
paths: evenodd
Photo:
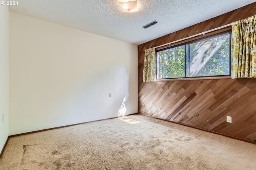
<path id="1" fill-rule="evenodd" d="M 255 14 L 256 2 L 139 45 L 138 113 L 256 142 L 255 78 L 142 82 L 144 49 Z"/>

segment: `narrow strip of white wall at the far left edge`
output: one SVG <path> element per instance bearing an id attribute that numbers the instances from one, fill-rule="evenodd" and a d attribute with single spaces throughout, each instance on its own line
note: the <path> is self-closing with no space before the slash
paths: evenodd
<path id="1" fill-rule="evenodd" d="M 2 1 L 1 1 L 2 2 Z M 4 1 L 6 2 L 6 1 Z M 4 114 L 4 121 L 2 115 Z M 0 5 L 0 152 L 9 133 L 9 10 Z"/>

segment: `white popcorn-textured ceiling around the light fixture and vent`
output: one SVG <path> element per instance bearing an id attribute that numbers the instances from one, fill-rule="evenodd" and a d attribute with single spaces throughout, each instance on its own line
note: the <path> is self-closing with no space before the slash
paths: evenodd
<path id="1" fill-rule="evenodd" d="M 256 0 L 138 0 L 138 12 L 123 13 L 118 0 L 19 0 L 9 10 L 139 45 L 253 2 Z M 159 23 L 142 28 L 154 20 Z"/>

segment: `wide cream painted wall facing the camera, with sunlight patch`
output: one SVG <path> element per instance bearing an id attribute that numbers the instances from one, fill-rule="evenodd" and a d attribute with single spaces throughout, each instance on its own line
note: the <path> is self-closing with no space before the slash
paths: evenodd
<path id="1" fill-rule="evenodd" d="M 10 135 L 138 112 L 136 45 L 10 12 L 10 49 Z"/>

